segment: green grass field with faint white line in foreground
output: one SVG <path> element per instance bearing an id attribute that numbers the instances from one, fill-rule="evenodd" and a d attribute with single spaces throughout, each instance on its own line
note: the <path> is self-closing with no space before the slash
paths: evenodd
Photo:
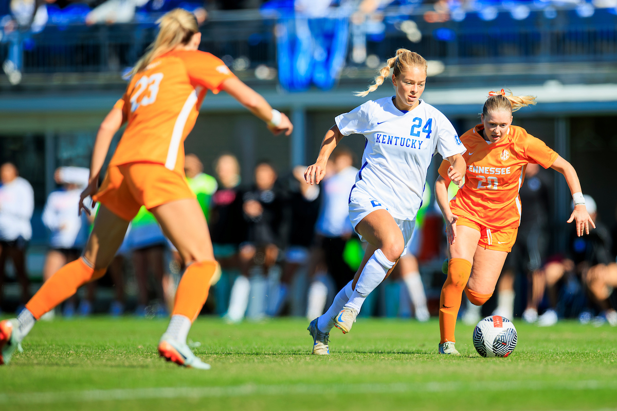
<path id="1" fill-rule="evenodd" d="M 438 356 L 439 324 L 361 319 L 309 356 L 303 319 L 226 325 L 199 319 L 189 338 L 212 370 L 157 357 L 164 320 L 95 317 L 37 324 L 0 367 L 0 410 L 607 410 L 617 409 L 617 328 L 516 322 L 518 347 L 485 359 L 473 327 L 461 357 Z"/>

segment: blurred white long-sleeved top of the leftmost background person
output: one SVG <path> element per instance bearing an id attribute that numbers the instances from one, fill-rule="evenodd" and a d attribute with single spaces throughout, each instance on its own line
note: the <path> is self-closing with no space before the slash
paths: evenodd
<path id="1" fill-rule="evenodd" d="M 19 237 L 30 240 L 30 219 L 35 209 L 35 193 L 22 177 L 0 185 L 0 240 L 13 241 Z"/>

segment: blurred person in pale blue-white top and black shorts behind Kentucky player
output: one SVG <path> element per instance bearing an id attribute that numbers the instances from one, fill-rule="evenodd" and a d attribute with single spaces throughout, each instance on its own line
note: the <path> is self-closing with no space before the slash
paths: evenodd
<path id="1" fill-rule="evenodd" d="M 336 289 L 341 290 L 355 274 L 344 260 L 343 251 L 347 241 L 355 234 L 349 220 L 349 192 L 358 169 L 353 166 L 354 154 L 347 147 L 339 145 L 330 158 L 334 173 L 320 184 L 323 202 L 315 225 L 315 245 Z M 323 314 L 327 296 L 325 279 L 315 275 L 309 287 L 307 318 L 313 319 Z"/>

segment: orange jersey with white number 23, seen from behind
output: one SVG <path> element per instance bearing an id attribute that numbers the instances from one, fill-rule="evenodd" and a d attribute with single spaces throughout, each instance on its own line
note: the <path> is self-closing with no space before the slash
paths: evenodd
<path id="1" fill-rule="evenodd" d="M 159 163 L 184 175 L 184 139 L 193 129 L 208 89 L 215 94 L 234 75 L 222 60 L 202 51 L 172 51 L 139 71 L 114 107 L 126 130 L 111 166 Z"/>

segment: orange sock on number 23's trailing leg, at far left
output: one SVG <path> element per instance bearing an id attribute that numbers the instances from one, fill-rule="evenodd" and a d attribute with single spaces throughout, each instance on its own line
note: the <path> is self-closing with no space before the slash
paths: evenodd
<path id="1" fill-rule="evenodd" d="M 69 262 L 43 283 L 43 287 L 28 301 L 26 308 L 38 320 L 41 315 L 75 294 L 82 285 L 101 278 L 106 271 L 93 269 L 83 258 Z"/>

